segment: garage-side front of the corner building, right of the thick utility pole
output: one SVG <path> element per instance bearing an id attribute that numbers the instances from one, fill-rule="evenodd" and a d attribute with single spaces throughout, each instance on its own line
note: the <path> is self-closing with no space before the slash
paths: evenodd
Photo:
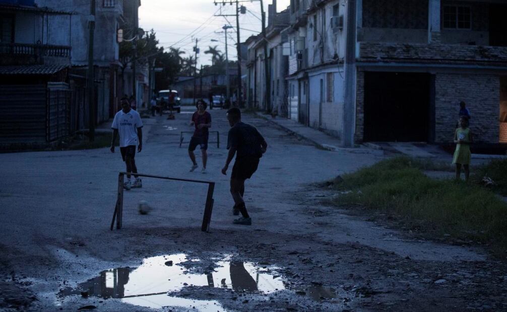
<path id="1" fill-rule="evenodd" d="M 507 3 L 357 2 L 356 141 L 507 142 Z M 389 125 L 389 127 L 386 127 Z"/>

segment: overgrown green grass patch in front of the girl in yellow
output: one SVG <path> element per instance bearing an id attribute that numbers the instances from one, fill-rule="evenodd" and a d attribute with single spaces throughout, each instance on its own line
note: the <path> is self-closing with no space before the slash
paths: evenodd
<path id="1" fill-rule="evenodd" d="M 504 169 L 505 171 L 505 169 Z M 507 205 L 474 183 L 432 180 L 410 158 L 394 158 L 342 176 L 335 204 L 406 216 L 460 240 L 491 244 L 507 253 Z"/>

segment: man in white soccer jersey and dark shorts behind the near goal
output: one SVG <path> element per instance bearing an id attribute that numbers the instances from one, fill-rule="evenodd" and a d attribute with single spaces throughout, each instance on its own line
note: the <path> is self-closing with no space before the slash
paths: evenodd
<path id="1" fill-rule="evenodd" d="M 111 128 L 113 129 L 111 152 L 115 152 L 115 141 L 120 135 L 120 151 L 122 159 L 127 165 L 127 173 L 134 173 L 132 182 L 130 181 L 130 174 L 127 174 L 127 181 L 125 181 L 123 187 L 126 190 L 142 187 L 141 179 L 135 175 L 137 167 L 134 160 L 136 145 L 138 152 L 142 150 L 142 121 L 139 113 L 130 108 L 130 103 L 127 100 L 122 100 L 122 110 L 116 113 Z"/>

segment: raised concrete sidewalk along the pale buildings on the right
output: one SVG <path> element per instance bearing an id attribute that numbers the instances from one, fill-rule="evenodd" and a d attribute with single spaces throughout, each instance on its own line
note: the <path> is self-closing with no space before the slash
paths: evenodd
<path id="1" fill-rule="evenodd" d="M 262 112 L 255 112 L 257 116 L 267 120 L 268 122 L 283 128 L 286 132 L 295 135 L 296 137 L 307 140 L 317 146 L 318 148 L 330 150 L 330 151 L 346 151 L 354 153 L 370 153 L 376 155 L 383 155 L 384 152 L 381 149 L 372 148 L 366 145 L 356 145 L 353 148 L 340 147 L 341 142 L 337 137 L 325 134 L 322 131 L 304 126 L 290 119 L 285 118 L 273 118 L 269 114 Z"/>

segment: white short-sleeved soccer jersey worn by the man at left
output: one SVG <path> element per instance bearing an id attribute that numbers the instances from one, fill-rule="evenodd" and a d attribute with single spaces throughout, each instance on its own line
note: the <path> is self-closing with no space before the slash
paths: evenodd
<path id="1" fill-rule="evenodd" d="M 120 134 L 120 147 L 137 145 L 137 128 L 142 127 L 141 116 L 133 109 L 124 113 L 123 109 L 116 113 L 112 129 L 118 129 Z"/>

